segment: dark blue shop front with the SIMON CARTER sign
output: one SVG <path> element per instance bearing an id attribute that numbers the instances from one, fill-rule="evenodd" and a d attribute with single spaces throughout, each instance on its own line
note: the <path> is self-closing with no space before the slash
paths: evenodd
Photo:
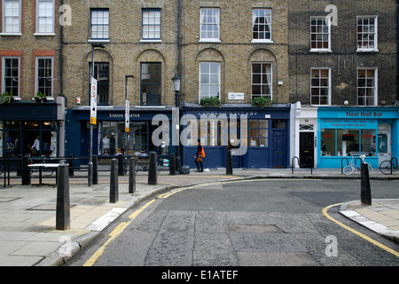
<path id="1" fill-rule="evenodd" d="M 130 106 L 129 132 L 125 132 L 125 108 L 121 106 L 98 107 L 97 125 L 93 127 L 93 154 L 99 157 L 118 154 L 147 156 L 156 152 L 159 156 L 168 156 L 174 152 L 169 136 L 161 139 L 160 145 L 153 143 L 153 132 L 160 125 L 153 125 L 157 114 L 172 119 L 172 107 L 168 106 Z M 75 106 L 66 110 L 66 154 L 74 156 L 90 155 L 90 108 Z"/>

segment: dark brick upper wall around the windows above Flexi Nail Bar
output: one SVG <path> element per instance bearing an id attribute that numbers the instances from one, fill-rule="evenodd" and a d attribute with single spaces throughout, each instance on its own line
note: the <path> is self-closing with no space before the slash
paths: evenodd
<path id="1" fill-rule="evenodd" d="M 310 52 L 310 17 L 324 16 L 327 4 L 338 12 L 338 26 L 332 26 L 331 52 Z M 392 105 L 396 99 L 396 1 L 290 1 L 289 9 L 290 101 L 310 104 L 310 68 L 331 69 L 332 105 L 348 100 L 357 105 L 357 69 L 378 69 L 378 105 Z M 356 16 L 378 17 L 378 51 L 356 51 Z"/>

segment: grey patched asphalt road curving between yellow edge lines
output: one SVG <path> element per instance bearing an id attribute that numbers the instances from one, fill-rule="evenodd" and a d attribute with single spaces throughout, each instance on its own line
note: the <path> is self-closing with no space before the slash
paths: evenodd
<path id="1" fill-rule="evenodd" d="M 399 198 L 399 181 L 371 182 L 372 198 Z M 129 209 L 66 265 L 398 266 L 397 256 L 322 214 L 326 206 L 359 198 L 359 180 L 191 186 Z M 338 209 L 328 213 L 399 251 L 395 242 L 342 217 Z"/>

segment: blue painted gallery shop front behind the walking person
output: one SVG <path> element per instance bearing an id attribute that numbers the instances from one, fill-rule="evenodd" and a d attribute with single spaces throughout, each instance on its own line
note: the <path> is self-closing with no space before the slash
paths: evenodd
<path id="1" fill-rule="evenodd" d="M 204 169 L 226 167 L 229 149 L 233 168 L 287 168 L 290 107 L 183 107 L 183 164 L 196 169 L 193 156 L 200 138 L 206 154 Z"/>

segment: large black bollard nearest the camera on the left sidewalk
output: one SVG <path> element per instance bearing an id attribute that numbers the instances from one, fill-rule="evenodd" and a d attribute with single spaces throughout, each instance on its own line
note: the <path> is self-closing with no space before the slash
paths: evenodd
<path id="1" fill-rule="evenodd" d="M 56 230 L 68 230 L 71 226 L 70 216 L 68 164 L 61 164 L 57 177 Z"/>

